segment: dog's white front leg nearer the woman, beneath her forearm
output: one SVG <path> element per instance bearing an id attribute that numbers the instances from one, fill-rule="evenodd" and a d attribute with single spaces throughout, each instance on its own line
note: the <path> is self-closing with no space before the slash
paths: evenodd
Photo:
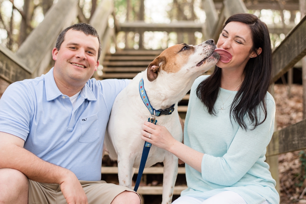
<path id="1" fill-rule="evenodd" d="M 170 204 L 173 196 L 174 184 L 178 170 L 178 158 L 171 153 L 166 153 L 164 159 L 163 201 Z"/>

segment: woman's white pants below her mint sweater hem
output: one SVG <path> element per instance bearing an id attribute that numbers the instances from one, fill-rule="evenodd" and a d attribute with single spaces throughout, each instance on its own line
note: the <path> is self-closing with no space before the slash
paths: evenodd
<path id="1" fill-rule="evenodd" d="M 192 196 L 181 196 L 172 204 L 247 204 L 244 199 L 234 191 L 223 191 L 208 199 Z M 264 201 L 261 204 L 269 204 Z"/>

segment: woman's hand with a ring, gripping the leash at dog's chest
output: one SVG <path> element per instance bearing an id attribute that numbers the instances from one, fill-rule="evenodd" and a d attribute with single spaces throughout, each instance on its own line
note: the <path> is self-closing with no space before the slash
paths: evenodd
<path id="1" fill-rule="evenodd" d="M 164 126 L 154 125 L 145 121 L 141 127 L 141 139 L 150 142 L 156 147 L 169 151 L 171 146 L 177 142 Z"/>

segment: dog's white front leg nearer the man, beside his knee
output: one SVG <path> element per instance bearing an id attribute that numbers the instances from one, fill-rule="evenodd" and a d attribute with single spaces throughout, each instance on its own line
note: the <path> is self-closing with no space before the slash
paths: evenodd
<path id="1" fill-rule="evenodd" d="M 119 185 L 132 187 L 133 164 L 135 158 L 131 158 L 128 153 L 118 154 L 118 178 Z"/>

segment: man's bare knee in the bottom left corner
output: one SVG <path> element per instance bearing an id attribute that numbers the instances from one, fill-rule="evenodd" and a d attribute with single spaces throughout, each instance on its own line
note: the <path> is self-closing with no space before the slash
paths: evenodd
<path id="1" fill-rule="evenodd" d="M 28 195 L 27 177 L 16 169 L 0 169 L 0 203 L 25 203 Z"/>

